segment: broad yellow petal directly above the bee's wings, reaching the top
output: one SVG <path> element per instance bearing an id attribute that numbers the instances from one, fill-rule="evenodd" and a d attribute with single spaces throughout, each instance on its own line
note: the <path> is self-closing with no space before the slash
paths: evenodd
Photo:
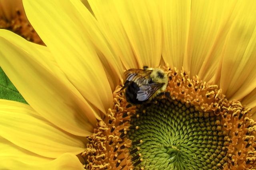
<path id="1" fill-rule="evenodd" d="M 162 29 L 158 9 L 153 1 L 113 0 L 89 3 L 96 18 L 108 29 L 110 36 L 113 35 L 111 41 L 120 48 L 119 54 L 127 69 L 137 65 L 139 68 L 145 65 L 158 66 L 162 50 Z"/>

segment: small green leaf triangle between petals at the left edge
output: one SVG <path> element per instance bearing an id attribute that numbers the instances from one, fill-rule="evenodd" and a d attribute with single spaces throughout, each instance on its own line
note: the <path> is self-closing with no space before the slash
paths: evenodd
<path id="1" fill-rule="evenodd" d="M 28 104 L 0 67 L 0 99 Z"/>

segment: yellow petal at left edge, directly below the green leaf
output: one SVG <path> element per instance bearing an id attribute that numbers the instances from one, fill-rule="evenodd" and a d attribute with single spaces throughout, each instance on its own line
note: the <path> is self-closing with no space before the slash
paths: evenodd
<path id="1" fill-rule="evenodd" d="M 29 105 L 0 100 L 0 117 L 0 136 L 38 155 L 57 158 L 65 152 L 79 154 L 86 148 L 78 137 L 59 129 Z"/>

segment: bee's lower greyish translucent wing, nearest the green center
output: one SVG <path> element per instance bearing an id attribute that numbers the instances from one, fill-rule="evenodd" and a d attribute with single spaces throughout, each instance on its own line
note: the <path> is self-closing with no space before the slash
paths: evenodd
<path id="1" fill-rule="evenodd" d="M 148 100 L 158 89 L 163 86 L 164 83 L 150 83 L 140 86 L 140 90 L 137 93 L 138 101 Z"/>

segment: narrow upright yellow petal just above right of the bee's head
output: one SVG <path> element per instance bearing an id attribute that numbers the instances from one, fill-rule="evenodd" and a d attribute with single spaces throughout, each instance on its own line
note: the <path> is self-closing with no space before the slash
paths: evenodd
<path id="1" fill-rule="evenodd" d="M 162 57 L 165 63 L 181 70 L 188 43 L 191 1 L 164 0 L 159 2 L 163 29 Z"/>

